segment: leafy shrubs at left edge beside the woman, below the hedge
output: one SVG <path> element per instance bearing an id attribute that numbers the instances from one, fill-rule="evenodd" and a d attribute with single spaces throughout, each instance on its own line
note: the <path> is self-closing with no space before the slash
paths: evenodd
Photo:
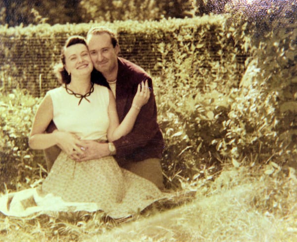
<path id="1" fill-rule="evenodd" d="M 45 164 L 28 146 L 39 99 L 15 89 L 8 95 L 0 94 L 0 100 L 0 189 L 4 189 L 4 182 L 10 189 L 34 185 L 41 179 L 41 165 Z"/>

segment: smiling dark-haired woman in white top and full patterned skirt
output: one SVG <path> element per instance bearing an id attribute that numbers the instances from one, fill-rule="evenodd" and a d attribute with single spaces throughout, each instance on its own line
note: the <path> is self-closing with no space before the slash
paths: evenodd
<path id="1" fill-rule="evenodd" d="M 83 149 L 79 139 L 109 141 L 126 135 L 148 102 L 148 83 L 140 84 L 132 107 L 119 124 L 113 94 L 91 82 L 93 64 L 83 37 L 72 36 L 62 49 L 64 85 L 50 90 L 42 101 L 29 137 L 32 149 L 61 144 L 64 151 L 38 188 L 6 194 L 0 211 L 28 216 L 51 211 L 102 210 L 113 218 L 130 216 L 164 194 L 152 183 L 121 169 L 112 156 L 76 162 Z M 45 133 L 53 120 L 57 131 Z"/>

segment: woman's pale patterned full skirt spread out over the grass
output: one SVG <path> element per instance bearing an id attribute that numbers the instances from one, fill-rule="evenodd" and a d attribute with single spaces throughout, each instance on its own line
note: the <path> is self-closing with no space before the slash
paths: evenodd
<path id="1" fill-rule="evenodd" d="M 0 212 L 25 217 L 101 210 L 117 219 L 166 197 L 154 183 L 120 168 L 112 156 L 75 162 L 61 152 L 42 186 L 1 196 Z"/>

